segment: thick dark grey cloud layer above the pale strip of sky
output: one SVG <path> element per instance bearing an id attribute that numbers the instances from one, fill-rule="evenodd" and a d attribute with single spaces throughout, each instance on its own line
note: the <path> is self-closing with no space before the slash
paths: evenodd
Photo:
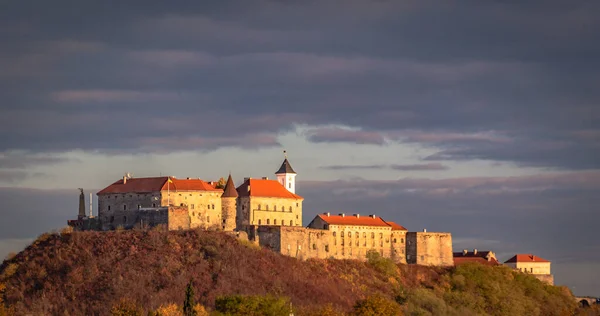
<path id="1" fill-rule="evenodd" d="M 581 133 L 600 131 L 599 4 L 532 3 L 12 2 L 0 152 L 272 146 L 299 123 L 355 128 L 314 142 L 423 143 L 430 160 L 597 169 Z"/>

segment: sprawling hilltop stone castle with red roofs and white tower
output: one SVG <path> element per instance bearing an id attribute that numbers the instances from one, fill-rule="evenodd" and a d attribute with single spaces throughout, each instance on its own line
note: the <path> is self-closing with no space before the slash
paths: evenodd
<path id="1" fill-rule="evenodd" d="M 169 230 L 237 232 L 262 247 L 308 258 L 365 260 L 368 251 L 398 263 L 453 265 L 452 236 L 409 232 L 376 215 L 317 215 L 302 226 L 303 197 L 287 157 L 276 179 L 245 178 L 237 188 L 229 175 L 224 187 L 201 179 L 124 176 L 97 193 L 98 216 L 85 215 L 83 191 L 76 230 L 114 230 L 164 225 Z M 83 208 L 83 210 L 82 210 Z"/>

